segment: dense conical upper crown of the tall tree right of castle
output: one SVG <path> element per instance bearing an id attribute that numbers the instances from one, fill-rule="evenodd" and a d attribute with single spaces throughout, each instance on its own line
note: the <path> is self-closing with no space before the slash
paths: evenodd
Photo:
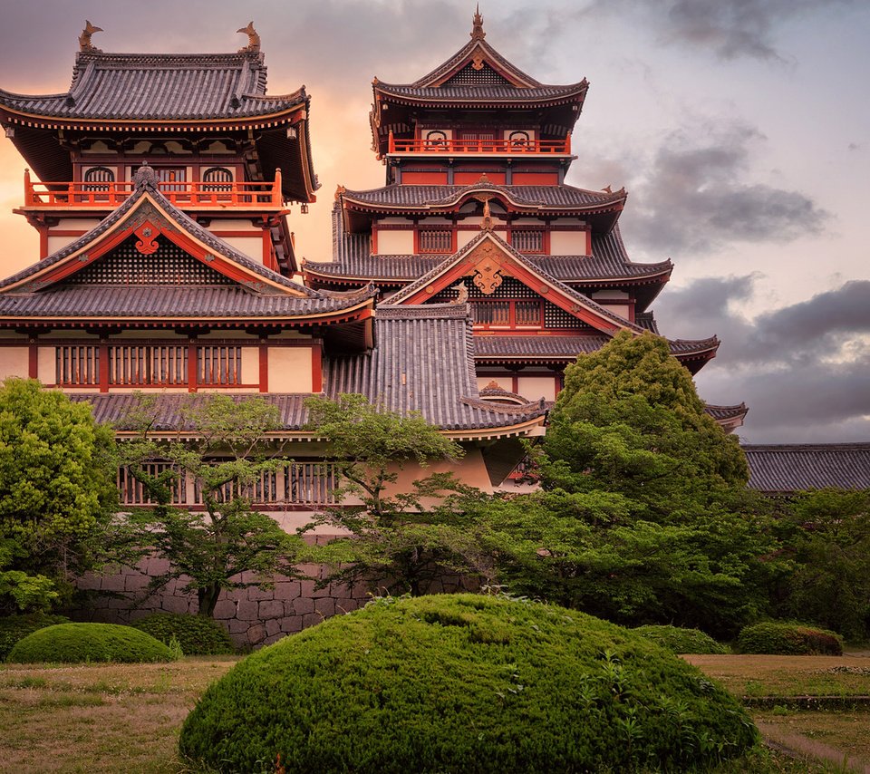
<path id="1" fill-rule="evenodd" d="M 544 450 L 547 486 L 619 492 L 652 521 L 709 506 L 749 479 L 737 439 L 705 413 L 691 375 L 653 334 L 617 334 L 568 366 Z"/>

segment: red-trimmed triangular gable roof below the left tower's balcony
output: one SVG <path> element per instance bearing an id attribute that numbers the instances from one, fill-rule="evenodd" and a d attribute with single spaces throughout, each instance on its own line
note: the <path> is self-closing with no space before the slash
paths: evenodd
<path id="1" fill-rule="evenodd" d="M 291 282 L 243 255 L 176 208 L 158 189 L 148 166 L 134 176 L 135 189 L 119 208 L 91 231 L 53 255 L 0 281 L 0 318 L 5 316 L 295 316 L 331 313 L 372 305 L 376 290 L 367 285 L 351 293 L 317 291 Z M 168 239 L 191 260 L 208 266 L 219 285 L 180 288 L 169 284 L 71 285 L 71 279 L 127 240 L 136 242 L 143 260 Z"/>

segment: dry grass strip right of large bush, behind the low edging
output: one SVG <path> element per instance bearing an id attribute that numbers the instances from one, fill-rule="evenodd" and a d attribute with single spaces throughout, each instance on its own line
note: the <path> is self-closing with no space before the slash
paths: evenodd
<path id="1" fill-rule="evenodd" d="M 735 696 L 868 696 L 870 658 L 687 655 Z"/>

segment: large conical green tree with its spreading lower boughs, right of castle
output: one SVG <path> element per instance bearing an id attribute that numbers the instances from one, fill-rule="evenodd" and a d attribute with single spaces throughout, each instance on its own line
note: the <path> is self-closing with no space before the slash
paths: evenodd
<path id="1" fill-rule="evenodd" d="M 735 439 L 652 334 L 623 333 L 565 372 L 538 450 L 544 491 L 479 509 L 498 577 L 623 624 L 731 634 L 764 608 L 763 508 Z"/>

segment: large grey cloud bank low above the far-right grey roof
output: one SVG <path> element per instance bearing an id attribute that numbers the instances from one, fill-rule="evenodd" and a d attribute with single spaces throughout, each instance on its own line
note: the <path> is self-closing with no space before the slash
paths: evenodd
<path id="1" fill-rule="evenodd" d="M 707 277 L 662 299 L 662 330 L 722 339 L 697 377 L 710 402 L 749 405 L 754 443 L 870 438 L 870 281 L 748 319 L 759 276 Z"/>

